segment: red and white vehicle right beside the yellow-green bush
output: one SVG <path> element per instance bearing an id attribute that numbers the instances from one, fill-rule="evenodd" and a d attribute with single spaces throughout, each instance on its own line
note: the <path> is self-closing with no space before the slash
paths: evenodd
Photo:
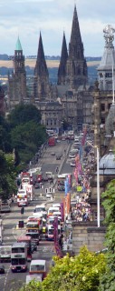
<path id="1" fill-rule="evenodd" d="M 46 276 L 46 260 L 32 260 L 29 274 L 41 274 L 43 281 L 43 278 Z"/>

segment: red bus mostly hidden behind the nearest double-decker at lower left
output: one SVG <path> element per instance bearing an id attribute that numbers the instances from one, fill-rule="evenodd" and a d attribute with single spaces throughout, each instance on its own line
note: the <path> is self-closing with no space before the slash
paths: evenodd
<path id="1" fill-rule="evenodd" d="M 31 236 L 18 236 L 17 243 L 26 243 L 27 246 L 27 261 L 32 260 L 32 237 Z"/>

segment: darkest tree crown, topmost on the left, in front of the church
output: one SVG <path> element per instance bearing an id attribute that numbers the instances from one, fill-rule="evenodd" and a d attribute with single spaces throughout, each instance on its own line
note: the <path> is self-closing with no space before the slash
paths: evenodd
<path id="1" fill-rule="evenodd" d="M 40 111 L 34 105 L 16 105 L 10 115 L 8 115 L 11 127 L 23 125 L 31 120 L 37 124 L 40 124 L 41 121 Z"/>

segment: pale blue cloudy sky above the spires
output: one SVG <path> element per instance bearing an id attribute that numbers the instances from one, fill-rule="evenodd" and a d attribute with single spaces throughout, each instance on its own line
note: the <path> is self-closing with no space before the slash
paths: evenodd
<path id="1" fill-rule="evenodd" d="M 63 31 L 69 45 L 74 5 L 84 55 L 101 56 L 103 28 L 115 28 L 115 0 L 0 0 L 0 55 L 14 55 L 18 35 L 24 55 L 37 55 L 40 31 L 44 55 L 61 55 Z"/>

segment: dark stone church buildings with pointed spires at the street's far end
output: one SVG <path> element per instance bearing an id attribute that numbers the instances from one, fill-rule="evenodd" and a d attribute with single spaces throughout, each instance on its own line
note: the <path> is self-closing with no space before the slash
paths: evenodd
<path id="1" fill-rule="evenodd" d="M 68 52 L 69 51 L 69 52 Z M 18 37 L 14 50 L 14 71 L 8 75 L 8 99 L 10 110 L 21 102 L 32 102 L 42 112 L 42 124 L 59 130 L 65 119 L 73 129 L 82 124 L 91 124 L 92 88 L 88 85 L 87 64 L 81 41 L 81 31 L 76 5 L 72 19 L 72 33 L 67 49 L 65 34 L 62 38 L 62 54 L 57 76 L 57 85 L 49 81 L 49 72 L 43 51 L 40 33 L 36 65 L 34 67 L 34 94 L 27 93 L 24 55 Z M 50 108 L 52 105 L 52 110 Z"/>

